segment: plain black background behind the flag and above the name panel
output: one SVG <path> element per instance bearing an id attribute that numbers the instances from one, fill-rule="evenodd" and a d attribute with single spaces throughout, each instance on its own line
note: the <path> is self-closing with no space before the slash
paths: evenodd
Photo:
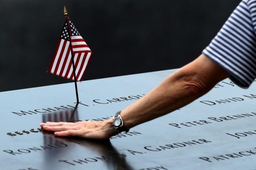
<path id="1" fill-rule="evenodd" d="M 240 0 L 0 0 L 0 92 L 71 82 L 46 73 L 63 6 L 93 58 L 83 80 L 179 68 Z"/>

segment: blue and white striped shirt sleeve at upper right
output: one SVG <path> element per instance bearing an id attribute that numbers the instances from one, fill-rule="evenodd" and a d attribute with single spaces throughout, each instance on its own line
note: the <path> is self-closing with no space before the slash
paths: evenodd
<path id="1" fill-rule="evenodd" d="M 256 0 L 243 0 L 203 54 L 248 88 L 256 78 Z"/>

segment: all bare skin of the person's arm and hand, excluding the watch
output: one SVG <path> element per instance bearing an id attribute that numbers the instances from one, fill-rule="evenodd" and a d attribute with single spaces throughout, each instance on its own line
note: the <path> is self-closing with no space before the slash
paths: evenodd
<path id="1" fill-rule="evenodd" d="M 124 127 L 130 129 L 177 110 L 203 96 L 229 76 L 226 70 L 202 54 L 168 76 L 146 96 L 122 110 L 120 115 Z M 112 122 L 112 119 L 100 122 L 46 122 L 40 126 L 60 137 L 108 139 L 120 133 Z"/>

